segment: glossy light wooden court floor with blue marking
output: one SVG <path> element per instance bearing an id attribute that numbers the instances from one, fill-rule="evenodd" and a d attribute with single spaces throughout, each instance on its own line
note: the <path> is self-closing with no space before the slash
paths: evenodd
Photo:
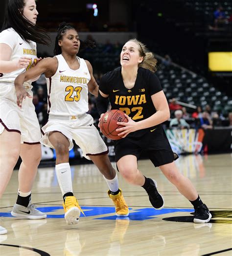
<path id="1" fill-rule="evenodd" d="M 32 191 L 33 203 L 46 211 L 47 219 L 16 219 L 9 213 L 18 189 L 14 171 L 0 200 L 0 225 L 8 230 L 0 235 L 0 256 L 232 256 L 231 154 L 182 156 L 176 163 L 208 205 L 210 223 L 191 222 L 191 204 L 149 160 L 139 160 L 139 169 L 157 180 L 165 200 L 160 211 L 141 187 L 118 174 L 130 215 L 116 218 L 101 174 L 85 164 L 71 166 L 74 195 L 86 215 L 79 224 L 66 225 L 54 167 L 39 169 Z"/>

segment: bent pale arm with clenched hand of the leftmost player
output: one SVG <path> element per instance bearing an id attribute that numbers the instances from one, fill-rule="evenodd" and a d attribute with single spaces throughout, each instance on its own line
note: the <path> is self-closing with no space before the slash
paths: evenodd
<path id="1" fill-rule="evenodd" d="M 0 73 L 10 73 L 18 69 L 26 68 L 29 65 L 29 57 L 21 57 L 17 60 L 10 60 L 11 48 L 7 44 L 0 44 Z"/>

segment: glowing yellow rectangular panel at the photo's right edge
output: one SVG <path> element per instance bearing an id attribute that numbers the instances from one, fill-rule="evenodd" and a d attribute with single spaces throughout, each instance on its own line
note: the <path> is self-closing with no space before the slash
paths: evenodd
<path id="1" fill-rule="evenodd" d="M 232 51 L 209 52 L 209 70 L 232 72 Z"/>

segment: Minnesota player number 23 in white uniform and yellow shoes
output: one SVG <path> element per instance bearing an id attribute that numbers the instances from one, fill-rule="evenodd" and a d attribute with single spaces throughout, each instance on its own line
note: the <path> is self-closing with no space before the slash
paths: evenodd
<path id="1" fill-rule="evenodd" d="M 108 195 L 116 206 L 116 215 L 124 217 L 129 214 L 118 188 L 116 171 L 110 163 L 107 146 L 93 125 L 93 117 L 86 113 L 89 109 L 88 91 L 97 96 L 98 85 L 90 62 L 76 56 L 79 47 L 80 40 L 75 28 L 62 23 L 55 42 L 56 56 L 42 60 L 35 68 L 15 80 L 17 102 L 22 106 L 23 98 L 26 97 L 23 83 L 45 73 L 49 119 L 42 128 L 45 135 L 41 142 L 56 150 L 55 170 L 64 198 L 67 224 L 78 223 L 81 211 L 72 193 L 69 164 L 72 140 L 82 149 L 83 156 L 91 159 L 103 174 L 110 189 Z"/>

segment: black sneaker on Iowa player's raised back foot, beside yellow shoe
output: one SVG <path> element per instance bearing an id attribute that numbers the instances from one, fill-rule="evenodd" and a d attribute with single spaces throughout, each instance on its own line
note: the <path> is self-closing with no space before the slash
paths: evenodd
<path id="1" fill-rule="evenodd" d="M 161 210 L 164 206 L 164 200 L 162 198 L 162 195 L 157 191 L 157 182 L 154 179 L 147 179 L 149 179 L 150 181 L 150 186 L 146 190 L 149 196 L 149 200 L 156 210 Z"/>

